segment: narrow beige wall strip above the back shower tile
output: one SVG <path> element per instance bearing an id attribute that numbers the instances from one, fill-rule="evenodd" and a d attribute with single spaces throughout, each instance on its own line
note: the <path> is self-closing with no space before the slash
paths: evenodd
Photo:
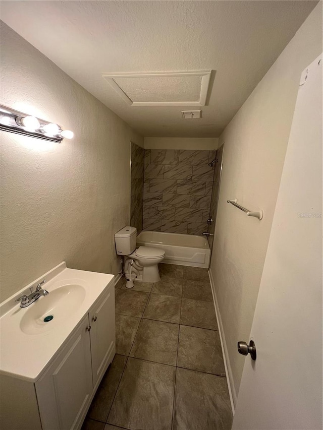
<path id="1" fill-rule="evenodd" d="M 145 149 L 218 149 L 218 138 L 145 137 Z"/>

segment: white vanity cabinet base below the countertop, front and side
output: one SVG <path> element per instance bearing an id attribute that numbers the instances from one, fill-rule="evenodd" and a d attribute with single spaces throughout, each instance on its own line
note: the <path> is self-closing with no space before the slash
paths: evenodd
<path id="1" fill-rule="evenodd" d="M 115 352 L 112 278 L 35 382 L 0 375 L 0 428 L 79 430 Z"/>

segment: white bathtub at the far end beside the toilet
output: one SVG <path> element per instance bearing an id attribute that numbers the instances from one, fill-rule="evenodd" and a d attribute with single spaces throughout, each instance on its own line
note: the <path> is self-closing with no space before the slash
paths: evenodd
<path id="1" fill-rule="evenodd" d="M 163 263 L 209 267 L 210 249 L 202 236 L 143 230 L 137 236 L 137 246 L 163 249 L 166 252 Z"/>

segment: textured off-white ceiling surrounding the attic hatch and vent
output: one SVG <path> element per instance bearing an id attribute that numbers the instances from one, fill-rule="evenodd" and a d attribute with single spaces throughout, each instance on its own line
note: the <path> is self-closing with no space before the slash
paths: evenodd
<path id="1" fill-rule="evenodd" d="M 3 1 L 0 17 L 143 136 L 217 137 L 316 3 Z M 195 121 L 184 107 L 131 107 L 102 78 L 205 69 L 214 72 Z"/>

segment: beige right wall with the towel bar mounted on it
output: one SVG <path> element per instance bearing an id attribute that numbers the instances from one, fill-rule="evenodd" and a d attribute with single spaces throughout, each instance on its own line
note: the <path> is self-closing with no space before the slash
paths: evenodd
<path id="1" fill-rule="evenodd" d="M 321 52 L 320 3 L 219 140 L 220 145 L 223 142 L 225 145 L 210 270 L 234 398 L 246 359 L 238 354 L 237 341 L 249 340 L 300 75 Z M 249 218 L 226 203 L 234 198 L 248 209 L 263 209 L 263 220 Z"/>

